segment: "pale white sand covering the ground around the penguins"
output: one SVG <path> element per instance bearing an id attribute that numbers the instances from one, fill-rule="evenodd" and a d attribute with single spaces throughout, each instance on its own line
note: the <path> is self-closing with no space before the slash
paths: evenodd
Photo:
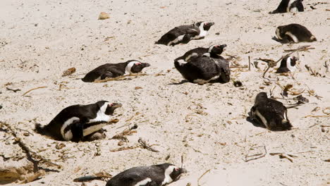
<path id="1" fill-rule="evenodd" d="M 322 132 L 320 125 L 329 125 L 329 118 L 305 118 L 324 116 L 322 110 L 330 106 L 329 73 L 323 67 L 325 61 L 330 63 L 330 20 L 326 11 L 329 4 L 318 4 L 312 10 L 307 4 L 314 3 L 317 1 L 304 1 L 303 13 L 270 15 L 268 12 L 279 1 L 0 1 L 0 105 L 4 107 L 0 109 L 0 120 L 32 132 L 33 135 L 25 137 L 24 131 L 18 130 L 29 147 L 43 150 L 39 152 L 42 156 L 55 161 L 66 151 L 70 157 L 56 161 L 63 166 L 59 173 L 49 172 L 41 180 L 26 185 L 42 185 L 42 182 L 43 185 L 81 185 L 72 180 L 99 171 L 116 175 L 133 166 L 164 163 L 169 154 L 168 162 L 178 166 L 181 155 L 185 154 L 184 164 L 189 171 L 173 186 L 185 186 L 188 182 L 197 185 L 197 178 L 209 169 L 212 171 L 204 175 L 200 185 L 326 185 L 330 182 L 330 166 L 324 161 L 329 159 L 329 128 Z M 97 20 L 102 11 L 111 18 Z M 174 47 L 154 45 L 171 28 L 200 20 L 215 22 L 205 39 Z M 238 63 L 244 66 L 248 56 L 277 60 L 284 55 L 284 49 L 309 44 L 280 44 L 271 39 L 277 26 L 289 23 L 305 25 L 318 39 L 310 43 L 315 49 L 299 53 L 300 70 L 295 73 L 295 79 L 276 75 L 275 70 L 267 74 L 281 85 L 293 84 L 296 91 L 305 90 L 302 95 L 310 100 L 298 109 L 289 109 L 294 130 L 269 132 L 245 120 L 257 93 L 276 87 L 274 96 L 281 97 L 276 81 L 267 86 L 261 77 L 265 63 L 259 63 L 261 70 L 232 68 L 232 78 L 243 82 L 240 88 L 232 82 L 173 85 L 183 80 L 173 69 L 173 59 L 197 46 L 227 44 L 224 56 L 239 56 Z M 106 37 L 113 38 L 104 41 Z M 151 63 L 144 70 L 150 75 L 99 84 L 75 80 L 104 63 L 129 59 Z M 305 64 L 326 77 L 310 75 Z M 78 76 L 61 77 L 63 70 L 71 67 L 77 68 Z M 164 75 L 154 75 L 161 71 Z M 6 86 L 8 82 L 12 85 Z M 59 91 L 60 82 L 67 82 L 68 89 Z M 41 86 L 47 88 L 30 92 L 27 94 L 30 97 L 22 96 L 27 90 Z M 142 89 L 135 90 L 137 86 Z M 310 96 L 307 86 L 322 99 Z M 6 87 L 21 91 L 14 93 Z M 58 142 L 33 132 L 35 122 L 46 125 L 66 106 L 102 99 L 123 104 L 114 116 L 120 121 L 105 127 L 106 140 L 65 142 L 66 147 L 57 150 Z M 321 109 L 311 113 L 317 106 Z M 140 114 L 135 116 L 135 113 Z M 126 121 L 132 117 L 133 120 Z M 124 147 L 135 145 L 138 137 L 143 137 L 149 144 L 158 144 L 154 148 L 161 152 L 147 149 L 110 152 L 118 148 L 118 140 L 110 138 L 125 129 L 118 127 L 135 123 L 139 125 L 138 132 L 128 136 L 130 142 Z M 310 128 L 312 125 L 315 126 Z M 23 156 L 20 147 L 12 143 L 13 137 L 3 131 L 0 134 L 0 154 Z M 96 143 L 101 144 L 100 156 L 94 156 Z M 266 146 L 267 155 L 245 162 L 252 145 Z M 250 154 L 262 152 L 263 148 L 257 148 Z M 270 156 L 271 152 L 298 157 L 291 163 Z M 4 162 L 0 158 L 1 166 L 26 163 L 26 159 Z M 93 181 L 87 185 L 105 183 Z"/>

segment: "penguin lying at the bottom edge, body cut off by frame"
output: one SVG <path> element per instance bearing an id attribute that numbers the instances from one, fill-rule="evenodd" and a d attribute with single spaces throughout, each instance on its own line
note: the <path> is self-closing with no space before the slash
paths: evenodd
<path id="1" fill-rule="evenodd" d="M 161 186 L 180 179 L 186 173 L 171 163 L 154 166 L 138 166 L 118 173 L 106 182 L 106 186 Z"/>

